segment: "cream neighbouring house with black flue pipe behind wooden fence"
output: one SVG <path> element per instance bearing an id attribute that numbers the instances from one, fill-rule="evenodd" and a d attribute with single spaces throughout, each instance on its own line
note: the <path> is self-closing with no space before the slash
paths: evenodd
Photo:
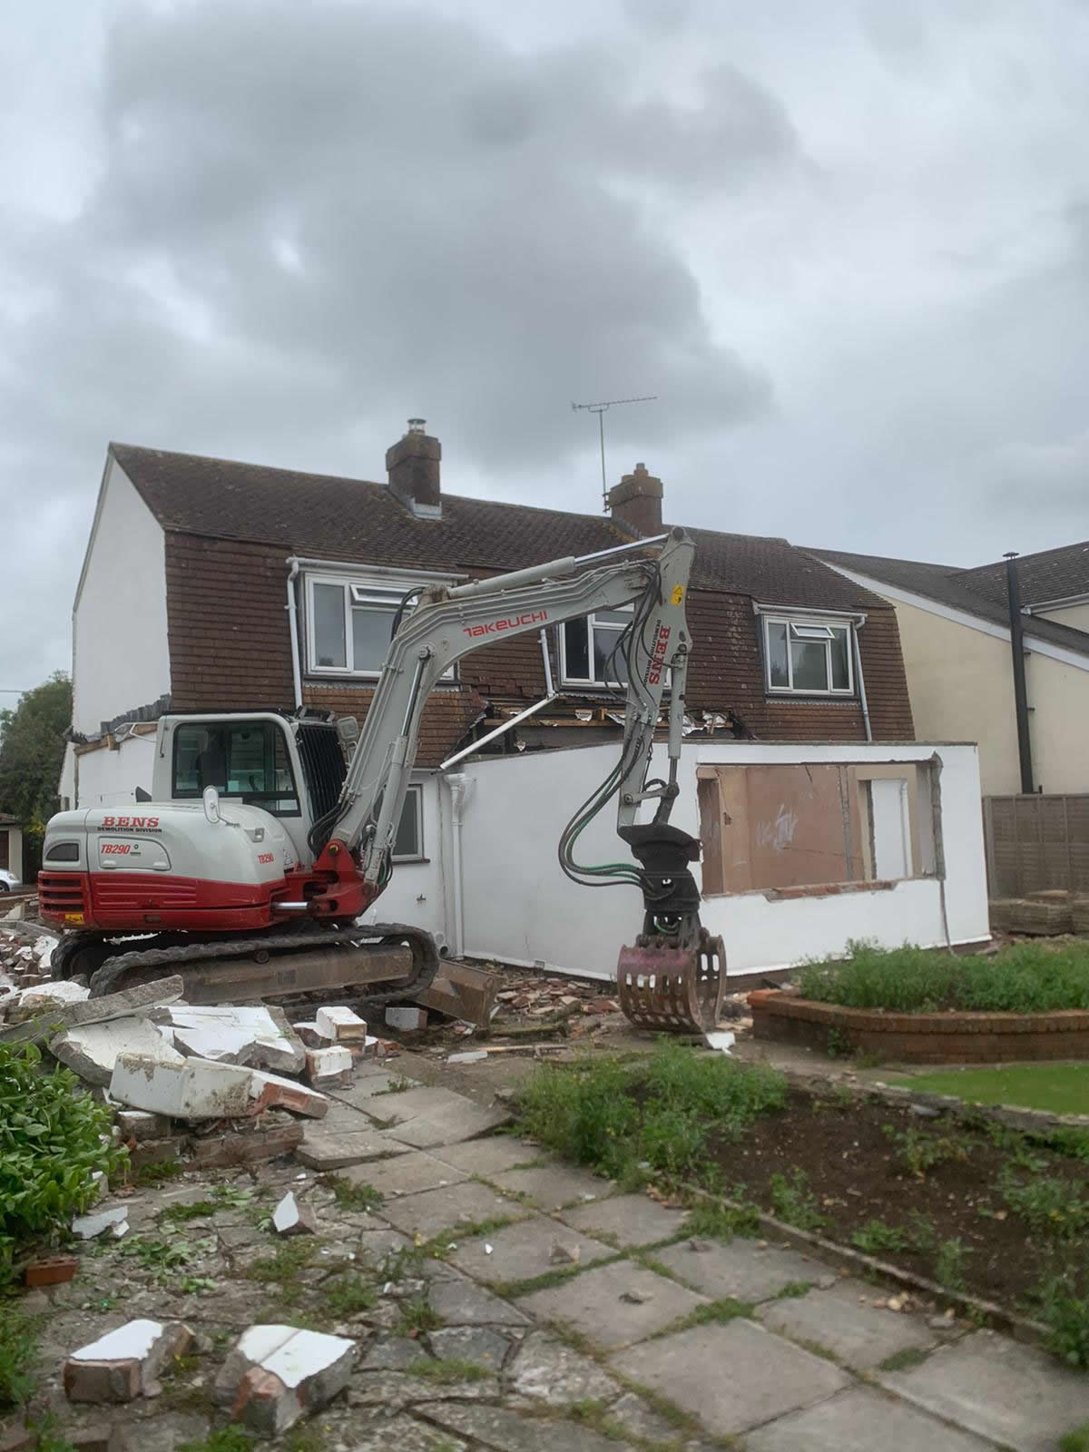
<path id="1" fill-rule="evenodd" d="M 894 605 L 915 727 L 923 739 L 979 742 L 984 796 L 1089 791 L 1089 542 L 1012 560 L 1021 732 L 1006 560 L 957 569 L 810 553 Z"/>

